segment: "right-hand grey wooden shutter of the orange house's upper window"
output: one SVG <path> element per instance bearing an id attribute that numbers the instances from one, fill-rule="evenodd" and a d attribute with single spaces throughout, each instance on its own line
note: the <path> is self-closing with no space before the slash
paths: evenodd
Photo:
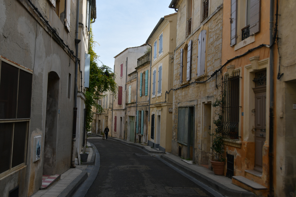
<path id="1" fill-rule="evenodd" d="M 250 1 L 250 35 L 260 31 L 260 0 Z"/>

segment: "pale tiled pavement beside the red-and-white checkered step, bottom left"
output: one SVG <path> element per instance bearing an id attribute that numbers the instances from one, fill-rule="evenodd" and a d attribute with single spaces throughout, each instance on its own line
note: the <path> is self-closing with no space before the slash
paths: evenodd
<path id="1" fill-rule="evenodd" d="M 84 169 L 78 169 L 78 168 L 70 168 L 66 172 L 60 175 L 61 179 L 54 183 L 52 187 L 39 190 L 35 194 L 33 194 L 31 197 L 56 197 L 59 196 L 59 194 L 64 191 L 64 189 L 67 188 L 68 185 L 72 183 L 72 181 L 80 175 Z"/>

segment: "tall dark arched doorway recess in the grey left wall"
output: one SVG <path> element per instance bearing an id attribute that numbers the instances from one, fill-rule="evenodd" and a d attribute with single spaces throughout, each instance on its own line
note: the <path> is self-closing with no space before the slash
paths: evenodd
<path id="1" fill-rule="evenodd" d="M 46 122 L 44 136 L 43 174 L 56 174 L 57 119 L 59 105 L 59 76 L 51 71 L 47 81 Z"/>

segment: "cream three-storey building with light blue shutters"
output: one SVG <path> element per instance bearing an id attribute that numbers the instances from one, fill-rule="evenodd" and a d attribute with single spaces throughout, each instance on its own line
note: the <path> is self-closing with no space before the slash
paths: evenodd
<path id="1" fill-rule="evenodd" d="M 173 92 L 173 55 L 176 48 L 177 13 L 164 16 L 151 32 L 146 43 L 152 45 L 150 73 L 150 109 L 148 145 L 171 151 Z"/>

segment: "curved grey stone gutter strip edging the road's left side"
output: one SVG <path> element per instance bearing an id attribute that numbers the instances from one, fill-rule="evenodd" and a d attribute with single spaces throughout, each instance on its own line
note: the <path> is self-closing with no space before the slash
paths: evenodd
<path id="1" fill-rule="evenodd" d="M 94 144 L 92 144 L 92 143 L 90 143 L 90 144 L 92 145 L 92 147 L 94 149 L 95 154 L 93 153 L 93 155 L 95 155 L 96 159 L 94 159 L 94 165 L 89 165 L 86 168 L 86 171 L 90 172 L 90 175 L 84 181 L 84 183 L 81 185 L 81 187 L 79 188 L 79 191 L 77 191 L 75 193 L 74 197 L 84 197 L 86 195 L 87 191 L 89 190 L 91 185 L 94 183 L 94 180 L 96 179 L 96 176 L 98 175 L 98 172 L 100 169 L 100 165 L 101 165 L 100 153 Z"/>

